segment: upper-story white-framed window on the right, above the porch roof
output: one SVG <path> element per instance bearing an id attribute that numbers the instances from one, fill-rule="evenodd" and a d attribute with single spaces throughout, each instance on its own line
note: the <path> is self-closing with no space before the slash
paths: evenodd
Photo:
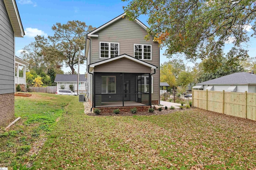
<path id="1" fill-rule="evenodd" d="M 134 57 L 136 59 L 151 60 L 152 46 L 134 44 Z"/>

